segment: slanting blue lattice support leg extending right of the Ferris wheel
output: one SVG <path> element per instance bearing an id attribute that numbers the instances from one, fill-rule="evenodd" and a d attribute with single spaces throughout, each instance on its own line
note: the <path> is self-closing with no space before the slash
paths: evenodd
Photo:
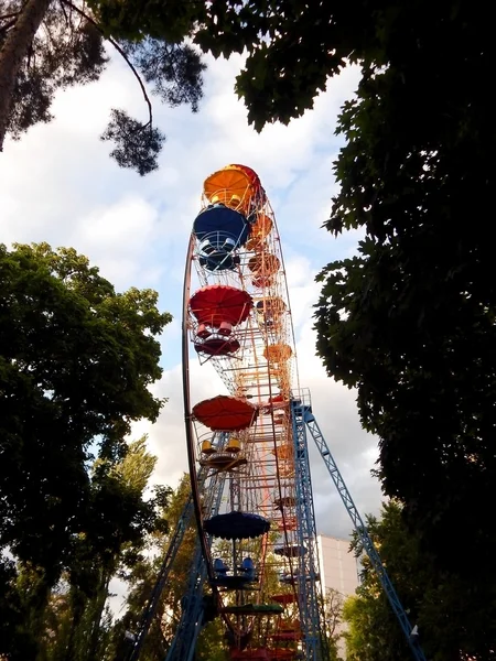
<path id="1" fill-rule="evenodd" d="M 380 560 L 380 556 L 374 545 L 374 542 L 368 534 L 367 528 L 353 501 L 353 498 L 344 483 L 344 479 L 336 466 L 333 455 L 325 442 L 325 438 L 315 421 L 315 416 L 312 413 L 312 407 L 310 404 L 302 403 L 300 400 L 293 400 L 293 411 L 295 416 L 301 418 L 304 421 L 304 427 L 309 430 L 312 438 L 317 446 L 317 449 L 321 454 L 321 457 L 324 460 L 324 464 L 331 475 L 331 478 L 334 483 L 334 486 L 339 494 L 343 503 L 346 508 L 346 511 L 349 514 L 349 518 L 353 521 L 353 525 L 358 533 L 359 540 L 364 548 L 364 551 L 367 553 L 368 559 L 370 561 L 371 566 L 374 567 L 381 585 L 382 589 L 386 593 L 387 598 L 391 605 L 392 611 L 395 613 L 398 621 L 401 626 L 401 629 L 407 638 L 408 644 L 410 646 L 411 652 L 416 661 L 425 661 L 425 655 L 419 646 L 416 638 L 412 636 L 412 626 L 408 619 L 407 614 L 401 605 L 401 602 L 398 598 L 396 589 L 386 572 L 386 568 Z"/>

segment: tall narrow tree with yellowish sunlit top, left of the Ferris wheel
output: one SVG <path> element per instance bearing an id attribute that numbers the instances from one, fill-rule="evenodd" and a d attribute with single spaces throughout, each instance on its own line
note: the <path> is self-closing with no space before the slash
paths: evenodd
<path id="1" fill-rule="evenodd" d="M 95 462 L 86 529 L 74 540 L 63 589 L 52 593 L 54 635 L 45 636 L 51 661 L 106 658 L 110 579 L 141 560 L 149 533 L 161 521 L 160 494 L 143 497 L 155 465 L 145 441 L 143 436 L 130 443 L 117 464 Z"/>

